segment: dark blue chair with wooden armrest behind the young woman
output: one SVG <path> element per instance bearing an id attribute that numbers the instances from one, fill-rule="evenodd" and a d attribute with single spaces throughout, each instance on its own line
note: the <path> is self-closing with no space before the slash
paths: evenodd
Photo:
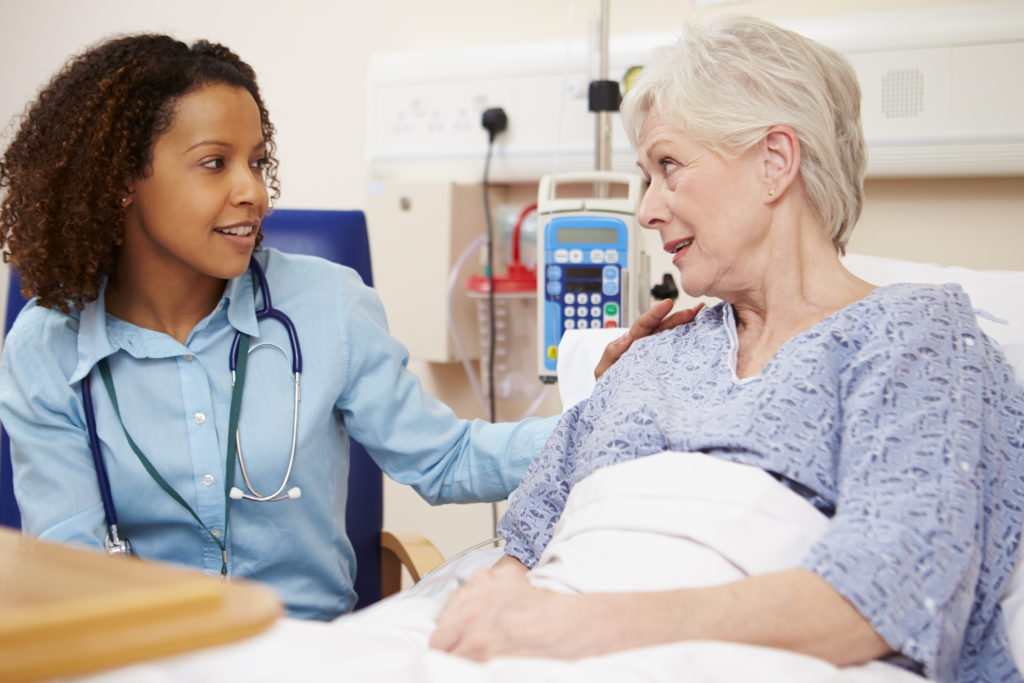
<path id="1" fill-rule="evenodd" d="M 361 211 L 278 209 L 263 221 L 263 246 L 297 254 L 321 256 L 347 265 L 373 287 L 370 241 Z M 12 272 L 5 330 L 26 301 Z M 383 479 L 380 468 L 357 441 L 351 440 L 346 530 L 355 550 L 356 609 L 397 592 L 404 566 L 413 581 L 443 559 L 425 539 L 416 535 L 382 532 Z M 20 526 L 10 474 L 10 445 L 0 433 L 0 523 Z"/>

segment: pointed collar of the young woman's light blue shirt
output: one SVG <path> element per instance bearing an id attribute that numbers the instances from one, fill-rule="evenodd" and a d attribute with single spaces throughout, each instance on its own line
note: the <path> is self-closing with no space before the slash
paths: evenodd
<path id="1" fill-rule="evenodd" d="M 122 344 L 115 343 L 108 333 L 105 292 L 104 281 L 96 299 L 86 303 L 79 313 L 78 364 L 68 380 L 69 384 L 80 381 L 92 372 L 97 362 L 124 348 Z M 227 304 L 228 325 L 243 334 L 257 336 L 259 327 L 256 323 L 256 301 L 253 292 L 253 276 L 250 269 L 227 282 L 222 301 L 226 301 Z"/>

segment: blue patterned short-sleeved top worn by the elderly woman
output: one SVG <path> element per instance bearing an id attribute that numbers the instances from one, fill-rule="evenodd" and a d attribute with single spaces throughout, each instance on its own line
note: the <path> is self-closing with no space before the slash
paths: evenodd
<path id="1" fill-rule="evenodd" d="M 998 601 L 1024 505 L 1024 396 L 955 285 L 892 285 L 735 374 L 732 307 L 642 339 L 563 415 L 509 499 L 536 565 L 569 489 L 660 451 L 702 452 L 836 506 L 802 566 L 942 681 L 1021 681 Z"/>

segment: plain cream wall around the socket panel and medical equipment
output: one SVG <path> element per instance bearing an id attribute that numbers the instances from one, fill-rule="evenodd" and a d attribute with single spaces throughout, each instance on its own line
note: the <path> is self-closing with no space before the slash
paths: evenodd
<path id="1" fill-rule="evenodd" d="M 727 11 L 791 19 L 946 4 L 955 3 L 612 0 L 610 25 L 613 34 L 647 33 Z M 597 8 L 597 0 L 0 0 L 0 142 L 8 139 L 7 123 L 68 54 L 116 32 L 206 37 L 232 46 L 260 74 L 279 130 L 280 206 L 361 208 L 366 74 L 374 51 L 581 38 Z M 1024 269 L 1024 178 L 871 180 L 867 197 L 852 251 Z M 461 415 L 479 413 L 461 367 L 413 367 Z M 502 414 L 515 415 L 512 408 Z M 557 411 L 557 402 L 544 410 Z M 386 495 L 389 526 L 426 532 L 447 555 L 490 533 L 489 506 L 427 509 L 398 485 L 388 485 Z"/>

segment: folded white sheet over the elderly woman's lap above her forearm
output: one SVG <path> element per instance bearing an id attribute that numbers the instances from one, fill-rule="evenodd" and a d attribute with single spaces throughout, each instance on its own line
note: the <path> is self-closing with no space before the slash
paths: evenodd
<path id="1" fill-rule="evenodd" d="M 827 524 L 760 469 L 667 452 L 577 484 L 530 581 L 587 593 L 723 584 L 797 566 Z"/>

